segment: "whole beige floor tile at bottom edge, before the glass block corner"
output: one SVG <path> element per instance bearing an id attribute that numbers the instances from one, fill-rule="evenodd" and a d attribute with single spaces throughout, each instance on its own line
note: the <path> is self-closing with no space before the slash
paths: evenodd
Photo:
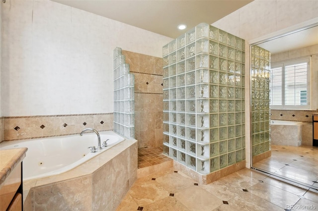
<path id="1" fill-rule="evenodd" d="M 212 211 L 223 204 L 222 200 L 199 186 L 179 191 L 174 198 L 191 211 Z"/>

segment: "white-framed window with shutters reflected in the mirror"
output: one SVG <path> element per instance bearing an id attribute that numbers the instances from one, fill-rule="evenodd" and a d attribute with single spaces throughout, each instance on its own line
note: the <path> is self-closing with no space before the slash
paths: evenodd
<path id="1" fill-rule="evenodd" d="M 310 58 L 271 68 L 271 108 L 310 109 Z"/>

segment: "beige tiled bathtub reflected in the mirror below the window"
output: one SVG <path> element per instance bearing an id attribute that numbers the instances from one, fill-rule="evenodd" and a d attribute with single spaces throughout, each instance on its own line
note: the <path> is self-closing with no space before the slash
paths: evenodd
<path id="1" fill-rule="evenodd" d="M 271 120 L 271 145 L 301 146 L 303 124 L 305 124 L 305 122 Z"/>

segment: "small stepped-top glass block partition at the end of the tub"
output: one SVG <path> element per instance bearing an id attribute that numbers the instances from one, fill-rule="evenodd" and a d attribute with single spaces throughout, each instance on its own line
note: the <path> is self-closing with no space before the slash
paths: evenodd
<path id="1" fill-rule="evenodd" d="M 114 50 L 114 131 L 127 139 L 135 138 L 134 82 L 121 48 Z"/>

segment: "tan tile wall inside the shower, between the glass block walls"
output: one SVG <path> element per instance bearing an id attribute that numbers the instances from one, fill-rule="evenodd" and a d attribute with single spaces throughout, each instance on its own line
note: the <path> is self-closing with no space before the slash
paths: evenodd
<path id="1" fill-rule="evenodd" d="M 162 58 L 122 51 L 135 75 L 135 139 L 138 148 L 162 146 Z"/>

